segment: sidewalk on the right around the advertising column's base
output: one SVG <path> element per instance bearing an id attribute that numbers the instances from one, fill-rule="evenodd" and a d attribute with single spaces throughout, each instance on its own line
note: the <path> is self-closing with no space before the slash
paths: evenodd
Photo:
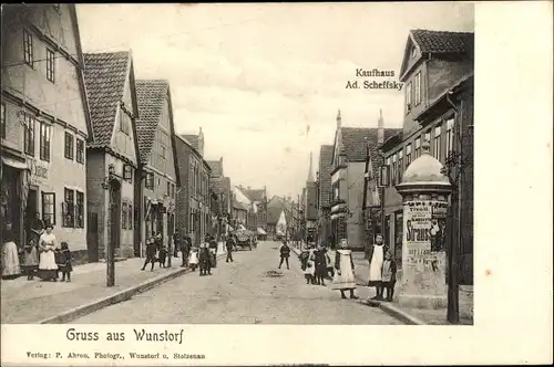
<path id="1" fill-rule="evenodd" d="M 300 251 L 291 248 L 298 255 Z M 358 292 L 361 297 L 375 295 L 375 289 L 366 287 L 369 279 L 369 262 L 363 259 L 362 252 L 352 252 L 355 263 L 355 277 L 359 287 L 365 292 Z M 331 261 L 335 259 L 331 259 Z M 360 290 L 361 291 L 361 290 Z M 367 291 L 367 292 L 366 292 Z M 400 306 L 397 302 L 371 301 L 370 305 L 379 306 L 390 315 L 403 321 L 407 324 L 414 325 L 447 325 L 445 310 L 421 310 L 414 307 Z M 473 287 L 460 287 L 460 324 L 473 324 Z"/>

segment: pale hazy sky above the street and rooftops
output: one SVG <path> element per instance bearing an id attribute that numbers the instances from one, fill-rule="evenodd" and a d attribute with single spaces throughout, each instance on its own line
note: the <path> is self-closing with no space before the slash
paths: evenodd
<path id="1" fill-rule="evenodd" d="M 471 3 L 78 4 L 84 52 L 132 50 L 136 78 L 170 81 L 177 134 L 205 139 L 233 185 L 301 192 L 310 153 L 342 126 L 401 127 L 403 88 L 346 88 L 394 71 L 410 29 L 473 31 Z M 361 83 L 361 82 L 360 82 Z"/>

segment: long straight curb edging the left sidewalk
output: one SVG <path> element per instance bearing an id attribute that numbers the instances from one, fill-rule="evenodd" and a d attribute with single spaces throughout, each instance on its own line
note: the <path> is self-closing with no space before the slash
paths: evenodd
<path id="1" fill-rule="evenodd" d="M 225 256 L 225 253 L 222 253 L 216 256 L 216 260 L 222 259 Z M 168 282 L 177 276 L 184 275 L 186 273 L 191 273 L 189 268 L 183 268 L 183 269 L 177 269 L 174 272 L 161 274 L 158 276 L 155 276 L 153 279 L 150 279 L 147 281 L 144 281 L 137 285 L 133 285 L 126 290 L 120 291 L 115 294 L 109 295 L 103 298 L 99 298 L 96 301 L 93 301 L 91 303 L 84 304 L 82 306 L 71 308 L 69 311 L 62 312 L 55 316 L 51 316 L 48 318 L 44 318 L 42 321 L 39 321 L 37 324 L 65 324 L 69 323 L 73 319 L 76 319 L 79 317 L 83 317 L 84 315 L 91 314 L 93 312 L 96 312 L 99 310 L 105 308 L 107 306 L 129 301 L 131 300 L 135 294 L 146 292 L 160 284 L 163 284 L 165 282 Z"/>

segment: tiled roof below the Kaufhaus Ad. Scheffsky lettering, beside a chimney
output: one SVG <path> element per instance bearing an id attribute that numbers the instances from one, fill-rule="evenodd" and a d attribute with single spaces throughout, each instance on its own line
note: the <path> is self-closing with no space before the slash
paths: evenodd
<path id="1" fill-rule="evenodd" d="M 377 127 L 341 127 L 342 147 L 348 161 L 366 161 L 367 144 L 371 150 L 371 157 L 377 154 L 378 148 L 378 128 Z M 384 128 L 384 140 L 397 134 L 400 128 Z M 366 138 L 368 140 L 366 140 Z"/>

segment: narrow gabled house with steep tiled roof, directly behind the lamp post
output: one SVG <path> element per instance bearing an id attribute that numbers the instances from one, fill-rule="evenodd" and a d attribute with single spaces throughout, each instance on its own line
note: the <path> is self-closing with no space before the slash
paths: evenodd
<path id="1" fill-rule="evenodd" d="M 104 258 L 107 243 L 115 245 L 116 256 L 140 255 L 135 221 L 141 220 L 135 216 L 135 190 L 141 181 L 135 128 L 138 106 L 132 54 L 85 54 L 84 64 L 94 128 L 86 148 L 89 259 Z"/>

